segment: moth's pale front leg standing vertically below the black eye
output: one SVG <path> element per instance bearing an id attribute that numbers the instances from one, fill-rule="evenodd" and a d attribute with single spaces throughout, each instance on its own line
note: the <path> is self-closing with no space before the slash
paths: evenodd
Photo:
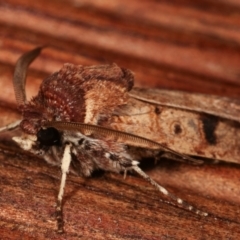
<path id="1" fill-rule="evenodd" d="M 58 193 L 58 200 L 57 200 L 57 208 L 56 208 L 56 214 L 57 214 L 57 225 L 58 225 L 58 232 L 63 233 L 63 216 L 62 216 L 62 199 L 63 199 L 63 193 L 64 193 L 64 187 L 66 185 L 66 178 L 67 174 L 69 172 L 69 166 L 71 163 L 71 144 L 66 144 L 63 158 L 62 158 L 62 178 L 61 178 L 61 184 L 60 189 Z"/>

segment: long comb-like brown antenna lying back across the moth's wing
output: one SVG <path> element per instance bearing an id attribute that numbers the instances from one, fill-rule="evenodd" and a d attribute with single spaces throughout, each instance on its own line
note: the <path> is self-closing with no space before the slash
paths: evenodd
<path id="1" fill-rule="evenodd" d="M 90 134 L 99 134 L 105 137 L 111 137 L 114 141 L 124 142 L 124 144 L 134 146 L 149 148 L 154 150 L 164 150 L 170 152 L 178 157 L 181 157 L 193 164 L 201 164 L 202 160 L 193 159 L 185 154 L 180 154 L 168 147 L 163 146 L 162 144 L 152 141 L 150 139 L 140 137 L 131 133 L 121 132 L 118 130 L 105 128 L 102 126 L 91 125 L 86 123 L 77 123 L 77 122 L 48 122 L 45 124 L 46 127 L 54 127 L 58 130 L 65 131 L 80 131 L 85 135 Z"/>

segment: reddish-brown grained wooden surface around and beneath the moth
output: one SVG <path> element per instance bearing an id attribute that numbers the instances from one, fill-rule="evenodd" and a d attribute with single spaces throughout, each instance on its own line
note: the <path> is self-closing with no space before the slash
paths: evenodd
<path id="1" fill-rule="evenodd" d="M 28 98 L 65 62 L 115 62 L 134 71 L 137 86 L 240 93 L 238 0 L 7 0 L 0 2 L 0 43 L 1 126 L 20 117 L 11 83 L 16 59 L 39 45 L 48 48 L 29 71 Z M 60 169 L 20 151 L 1 134 L 0 239 L 239 238 L 239 166 L 163 161 L 143 168 L 210 216 L 168 204 L 134 175 L 126 180 L 111 173 L 89 179 L 70 175 L 66 233 L 58 235 Z"/>

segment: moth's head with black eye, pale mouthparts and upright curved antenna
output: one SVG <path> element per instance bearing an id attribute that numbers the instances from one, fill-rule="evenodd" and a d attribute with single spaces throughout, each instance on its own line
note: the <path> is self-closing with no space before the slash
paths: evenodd
<path id="1" fill-rule="evenodd" d="M 21 137 L 14 137 L 24 150 L 31 151 L 53 145 L 60 145 L 61 134 L 53 127 L 44 127 L 49 114 L 46 114 L 44 103 L 41 102 L 41 94 L 30 101 L 26 100 L 25 83 L 26 73 L 30 63 L 40 54 L 42 47 L 36 48 L 22 55 L 16 63 L 13 85 L 16 101 L 22 111 L 23 120 L 20 128 L 23 132 Z"/>

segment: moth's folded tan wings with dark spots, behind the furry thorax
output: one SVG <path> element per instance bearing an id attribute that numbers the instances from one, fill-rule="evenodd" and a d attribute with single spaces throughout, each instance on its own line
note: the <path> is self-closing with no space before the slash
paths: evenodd
<path id="1" fill-rule="evenodd" d="M 175 91 L 133 89 L 128 104 L 107 124 L 179 153 L 240 163 L 240 101 L 184 92 L 176 92 L 173 99 L 174 95 Z"/>

